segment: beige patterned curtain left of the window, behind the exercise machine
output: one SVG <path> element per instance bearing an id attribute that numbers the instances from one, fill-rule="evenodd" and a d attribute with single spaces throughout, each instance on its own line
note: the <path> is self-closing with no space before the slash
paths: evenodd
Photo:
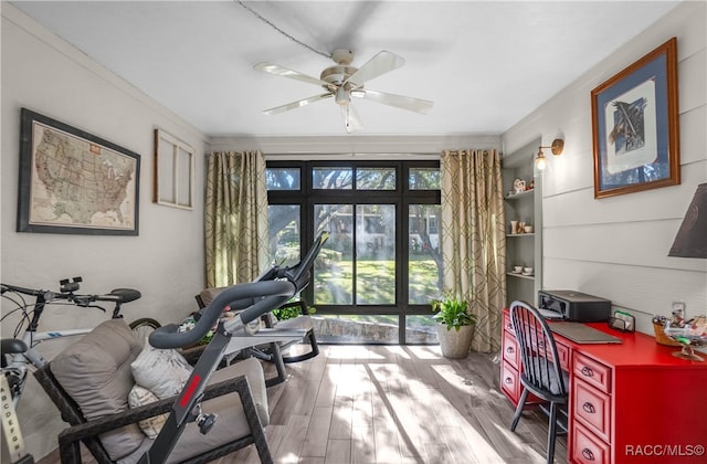
<path id="1" fill-rule="evenodd" d="M 207 287 L 252 282 L 268 262 L 263 154 L 211 154 L 204 222 Z"/>

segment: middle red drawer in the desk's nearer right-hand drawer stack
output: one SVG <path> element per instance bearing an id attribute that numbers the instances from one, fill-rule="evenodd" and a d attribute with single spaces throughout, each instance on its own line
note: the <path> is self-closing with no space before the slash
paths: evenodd
<path id="1" fill-rule="evenodd" d="M 604 441 L 611 437 L 611 397 L 576 379 L 572 386 L 572 412 Z"/>

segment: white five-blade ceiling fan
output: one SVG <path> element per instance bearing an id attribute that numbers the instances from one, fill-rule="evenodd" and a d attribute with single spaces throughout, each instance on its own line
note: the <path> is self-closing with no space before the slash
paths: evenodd
<path id="1" fill-rule="evenodd" d="M 432 108 L 433 103 L 426 99 L 365 88 L 363 85 L 368 81 L 402 66 L 405 63 L 405 60 L 403 60 L 402 56 L 388 51 L 381 51 L 359 68 L 351 66 L 354 52 L 350 50 L 335 50 L 331 54 L 331 59 L 336 64 L 324 70 L 319 78 L 273 63 L 258 63 L 253 66 L 255 70 L 263 71 L 268 74 L 320 85 L 326 91 L 319 95 L 314 95 L 286 105 L 265 109 L 263 113 L 267 115 L 276 115 L 299 108 L 320 99 L 334 97 L 334 101 L 341 108 L 346 131 L 354 133 L 360 130 L 362 128 L 362 124 L 351 105 L 351 97 L 366 98 L 371 102 L 382 103 L 383 105 L 395 106 L 398 108 L 422 114 L 426 114 L 430 108 Z"/>

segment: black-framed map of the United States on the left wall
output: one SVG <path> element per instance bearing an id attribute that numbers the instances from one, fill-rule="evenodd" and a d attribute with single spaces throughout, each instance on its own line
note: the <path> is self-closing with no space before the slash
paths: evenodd
<path id="1" fill-rule="evenodd" d="M 138 235 L 140 156 L 22 108 L 18 232 Z"/>

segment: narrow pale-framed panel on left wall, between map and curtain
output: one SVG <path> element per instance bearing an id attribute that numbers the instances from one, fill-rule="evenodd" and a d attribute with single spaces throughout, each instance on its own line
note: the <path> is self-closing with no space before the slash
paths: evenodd
<path id="1" fill-rule="evenodd" d="M 154 201 L 167 207 L 194 207 L 194 149 L 162 129 L 155 129 Z"/>

